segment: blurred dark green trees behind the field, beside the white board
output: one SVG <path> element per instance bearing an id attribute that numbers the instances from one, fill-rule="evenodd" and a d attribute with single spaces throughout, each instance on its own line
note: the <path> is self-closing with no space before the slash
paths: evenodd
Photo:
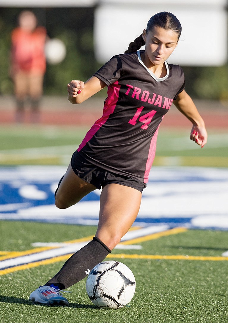
<path id="1" fill-rule="evenodd" d="M 86 80 L 101 66 L 94 56 L 94 8 L 0 8 L 0 95 L 13 94 L 13 83 L 8 73 L 10 34 L 17 25 L 18 14 L 24 9 L 33 11 L 39 25 L 46 27 L 48 36 L 61 39 L 67 50 L 60 64 L 47 65 L 45 95 L 66 95 L 66 85 L 71 79 Z M 186 91 L 193 98 L 228 99 L 228 64 L 182 68 L 187 81 Z"/>

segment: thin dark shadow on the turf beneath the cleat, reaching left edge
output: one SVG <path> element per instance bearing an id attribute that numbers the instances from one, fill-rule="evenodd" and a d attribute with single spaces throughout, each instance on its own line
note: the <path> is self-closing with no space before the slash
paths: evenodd
<path id="1" fill-rule="evenodd" d="M 3 296 L 0 295 L 0 303 L 14 303 L 14 304 L 26 304 L 26 305 L 34 305 L 33 302 L 31 302 L 29 299 L 25 298 L 19 298 L 19 297 L 12 297 L 12 296 Z M 47 306 L 44 304 L 35 304 L 35 306 Z M 50 306 L 50 305 L 48 305 Z M 51 305 L 51 307 L 61 307 L 61 305 Z M 65 305 L 62 305 L 65 307 Z M 77 303 L 70 303 L 69 306 L 67 307 L 72 307 L 72 308 L 91 308 L 95 309 L 97 308 L 95 305 L 87 305 L 87 304 L 77 304 Z"/>

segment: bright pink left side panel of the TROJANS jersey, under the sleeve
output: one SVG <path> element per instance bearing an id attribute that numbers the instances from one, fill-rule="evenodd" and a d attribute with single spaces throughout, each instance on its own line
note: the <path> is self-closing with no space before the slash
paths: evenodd
<path id="1" fill-rule="evenodd" d="M 78 151 L 80 151 L 88 141 L 92 139 L 92 137 L 95 135 L 95 133 L 105 124 L 105 122 L 108 120 L 111 113 L 114 112 L 114 109 L 116 107 L 116 103 L 119 98 L 119 90 L 120 85 L 118 84 L 118 81 L 114 82 L 110 86 L 108 86 L 108 97 L 105 100 L 104 108 L 103 108 L 103 116 L 96 120 L 94 125 L 91 127 L 91 129 L 87 132 L 85 135 L 85 138 L 82 140 Z"/>

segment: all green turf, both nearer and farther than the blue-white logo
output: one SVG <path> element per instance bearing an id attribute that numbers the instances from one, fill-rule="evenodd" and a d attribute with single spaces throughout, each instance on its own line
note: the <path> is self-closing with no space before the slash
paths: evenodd
<path id="1" fill-rule="evenodd" d="M 68 165 L 88 128 L 1 125 L 0 165 Z M 188 130 L 160 129 L 154 165 L 228 167 L 228 134 L 209 131 L 201 149 Z M 0 221 L 0 259 L 17 256 L 36 242 L 65 242 L 93 235 L 93 226 Z M 109 259 L 124 262 L 136 277 L 129 306 L 98 309 L 85 279 L 70 288 L 69 307 L 36 306 L 30 293 L 64 263 L 20 267 L 0 275 L 1 323 L 226 323 L 228 322 L 227 231 L 185 230 L 138 241 L 140 250 L 114 250 Z M 15 253 L 13 253 L 15 252 Z"/>

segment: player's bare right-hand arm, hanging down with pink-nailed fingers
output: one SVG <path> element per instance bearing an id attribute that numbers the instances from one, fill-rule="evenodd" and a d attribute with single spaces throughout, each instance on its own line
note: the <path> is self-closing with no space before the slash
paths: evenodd
<path id="1" fill-rule="evenodd" d="M 204 121 L 190 96 L 183 90 L 173 101 L 177 109 L 192 123 L 190 139 L 203 148 L 207 142 L 207 131 Z"/>

